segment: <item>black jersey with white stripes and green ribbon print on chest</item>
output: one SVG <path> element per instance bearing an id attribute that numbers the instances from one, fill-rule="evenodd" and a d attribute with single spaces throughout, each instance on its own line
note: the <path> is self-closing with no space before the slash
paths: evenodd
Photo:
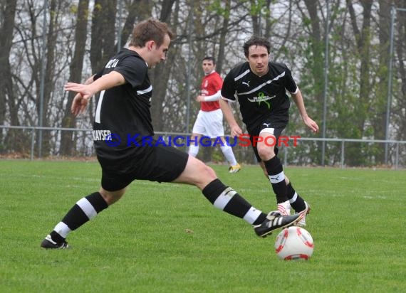
<path id="1" fill-rule="evenodd" d="M 243 122 L 252 128 L 270 115 L 288 112 L 291 103 L 286 90 L 295 93 L 298 87 L 285 64 L 269 62 L 269 72 L 259 77 L 245 62 L 224 78 L 222 96 L 230 102 L 238 99 Z"/>

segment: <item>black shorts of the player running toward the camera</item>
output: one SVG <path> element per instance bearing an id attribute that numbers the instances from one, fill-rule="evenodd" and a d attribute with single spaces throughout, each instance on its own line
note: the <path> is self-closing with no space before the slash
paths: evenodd
<path id="1" fill-rule="evenodd" d="M 286 128 L 286 125 L 288 125 L 288 113 L 276 115 L 276 116 L 264 119 L 261 121 L 261 123 L 257 124 L 256 127 L 253 127 L 252 129 L 249 129 L 247 127 L 249 139 L 251 141 L 251 146 L 252 146 L 252 149 L 254 149 L 254 154 L 256 156 L 257 161 L 260 162 L 262 160 L 259 157 L 258 149 L 256 149 L 256 146 L 254 146 L 253 137 L 258 137 L 259 132 L 261 132 L 262 129 L 266 129 L 266 128 L 274 129 L 274 137 L 276 137 L 276 144 L 274 147 L 274 151 L 275 151 L 275 154 L 278 155 L 278 151 L 279 151 L 278 139 L 281 136 L 283 129 Z"/>

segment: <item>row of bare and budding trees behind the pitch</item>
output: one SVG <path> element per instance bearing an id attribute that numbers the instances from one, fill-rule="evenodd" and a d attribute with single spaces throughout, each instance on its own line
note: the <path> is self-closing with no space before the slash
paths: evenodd
<path id="1" fill-rule="evenodd" d="M 395 11 L 386 133 L 391 6 L 406 9 L 406 1 L 1 0 L 0 125 L 91 128 L 97 97 L 85 114 L 73 117 L 74 94 L 64 92 L 63 84 L 84 82 L 103 68 L 118 48 L 126 46 L 134 24 L 152 16 L 167 22 L 176 33 L 165 63 L 150 70 L 157 132 L 190 132 L 199 110 L 194 97 L 203 76 L 202 58 L 213 55 L 224 77 L 244 61 L 242 44 L 255 34 L 271 41 L 271 60 L 291 68 L 308 114 L 321 128 L 325 123 L 325 137 L 405 141 L 404 11 Z M 323 135 L 308 132 L 295 105 L 284 134 Z M 0 154 L 28 154 L 31 137 L 29 129 L 1 129 Z M 41 147 L 41 156 L 92 153 L 88 132 L 45 129 L 33 139 L 36 151 Z M 321 164 L 321 148 L 319 141 L 291 148 L 290 162 Z M 383 144 L 348 143 L 345 148 L 348 166 L 385 162 Z M 395 151 L 399 150 L 390 145 L 389 164 Z M 252 162 L 251 149 L 236 147 L 236 153 L 239 161 Z M 218 154 L 214 149 L 202 156 L 208 160 Z M 404 156 L 401 159 L 405 161 Z M 339 143 L 326 144 L 326 161 L 328 165 L 340 161 Z"/>

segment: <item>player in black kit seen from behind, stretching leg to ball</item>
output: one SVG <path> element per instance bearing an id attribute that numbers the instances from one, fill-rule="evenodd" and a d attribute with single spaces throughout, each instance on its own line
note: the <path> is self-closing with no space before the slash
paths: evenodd
<path id="1" fill-rule="evenodd" d="M 213 169 L 183 151 L 162 144 L 142 146 L 142 137 L 154 135 L 152 85 L 147 70 L 165 60 L 171 38 L 166 23 L 153 18 L 142 21 L 132 31 L 128 48 L 111 58 L 100 73 L 85 84 L 65 85 L 65 90 L 78 92 L 71 107 L 75 115 L 83 112 L 90 97 L 100 92 L 93 139 L 102 168 L 101 188 L 77 201 L 41 247 L 67 248 L 68 233 L 118 201 L 136 179 L 197 186 L 216 208 L 254 225 L 260 237 L 301 220 L 301 214 L 262 213 L 219 181 Z"/>

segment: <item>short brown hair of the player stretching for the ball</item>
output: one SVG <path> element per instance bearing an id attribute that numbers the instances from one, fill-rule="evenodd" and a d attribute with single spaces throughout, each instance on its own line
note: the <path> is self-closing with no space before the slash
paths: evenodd
<path id="1" fill-rule="evenodd" d="M 168 35 L 171 39 L 174 36 L 167 23 L 158 21 L 155 18 L 148 18 L 138 23 L 132 30 L 130 46 L 142 48 L 147 41 L 155 41 L 157 46 L 160 47 L 164 43 L 165 35 Z"/>

